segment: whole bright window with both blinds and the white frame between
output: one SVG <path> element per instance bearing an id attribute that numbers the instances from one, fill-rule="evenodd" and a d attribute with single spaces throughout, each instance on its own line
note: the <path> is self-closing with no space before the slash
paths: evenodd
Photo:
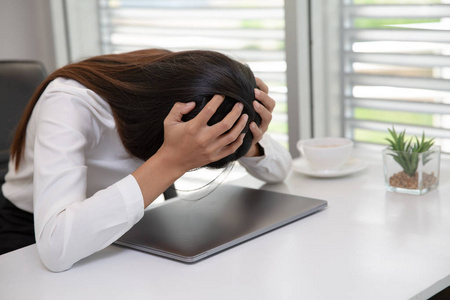
<path id="1" fill-rule="evenodd" d="M 249 64 L 277 101 L 269 130 L 294 156 L 300 138 L 380 144 L 391 126 L 425 130 L 450 152 L 450 0 L 65 3 L 69 60 L 161 47 L 216 50 Z M 84 9 L 75 17 L 77 7 Z M 100 24 L 98 37 L 85 34 L 90 19 L 90 28 Z"/>

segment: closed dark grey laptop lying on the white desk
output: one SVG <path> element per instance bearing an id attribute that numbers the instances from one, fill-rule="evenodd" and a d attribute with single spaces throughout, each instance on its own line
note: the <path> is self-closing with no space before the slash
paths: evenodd
<path id="1" fill-rule="evenodd" d="M 326 206 L 324 200 L 222 185 L 200 200 L 174 198 L 146 210 L 116 244 L 192 263 Z"/>

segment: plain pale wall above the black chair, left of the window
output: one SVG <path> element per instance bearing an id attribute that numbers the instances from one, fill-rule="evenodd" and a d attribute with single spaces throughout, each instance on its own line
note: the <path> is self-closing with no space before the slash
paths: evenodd
<path id="1" fill-rule="evenodd" d="M 0 0 L 0 60 L 42 61 L 56 68 L 49 0 Z"/>

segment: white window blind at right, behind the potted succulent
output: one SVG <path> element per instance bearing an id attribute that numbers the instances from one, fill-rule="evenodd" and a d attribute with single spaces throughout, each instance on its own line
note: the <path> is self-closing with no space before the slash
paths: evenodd
<path id="1" fill-rule="evenodd" d="M 341 1 L 345 135 L 385 143 L 395 126 L 450 152 L 450 4 Z"/>

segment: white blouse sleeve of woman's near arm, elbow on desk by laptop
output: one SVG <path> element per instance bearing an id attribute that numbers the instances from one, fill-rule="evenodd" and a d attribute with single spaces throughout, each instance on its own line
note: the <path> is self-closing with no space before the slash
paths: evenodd
<path id="1" fill-rule="evenodd" d="M 86 152 L 101 129 L 75 96 L 41 101 L 34 123 L 35 233 L 42 261 L 58 272 L 117 240 L 143 216 L 144 205 L 132 175 L 86 197 Z"/>

